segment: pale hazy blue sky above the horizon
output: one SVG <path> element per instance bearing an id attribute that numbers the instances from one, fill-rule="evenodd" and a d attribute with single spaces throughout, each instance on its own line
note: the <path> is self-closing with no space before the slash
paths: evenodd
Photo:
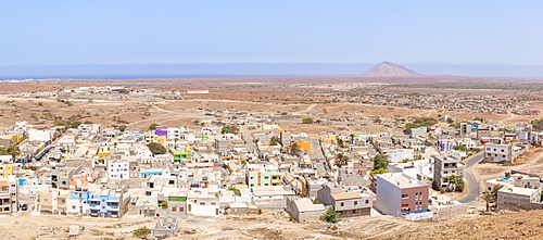
<path id="1" fill-rule="evenodd" d="M 543 1 L 0 1 L 0 65 L 543 65 Z"/>

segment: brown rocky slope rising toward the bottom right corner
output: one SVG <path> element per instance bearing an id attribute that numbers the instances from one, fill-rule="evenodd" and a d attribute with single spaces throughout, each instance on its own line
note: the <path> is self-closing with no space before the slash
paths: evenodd
<path id="1" fill-rule="evenodd" d="M 445 222 L 407 222 L 397 218 L 351 223 L 340 230 L 352 239 L 541 239 L 543 211 L 472 216 Z M 368 230 L 375 228 L 375 230 Z"/>

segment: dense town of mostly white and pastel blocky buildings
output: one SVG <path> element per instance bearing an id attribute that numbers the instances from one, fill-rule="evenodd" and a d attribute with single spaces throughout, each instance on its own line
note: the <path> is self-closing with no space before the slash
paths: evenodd
<path id="1" fill-rule="evenodd" d="M 205 111 L 237 117 L 192 128 L 35 129 L 21 121 L 0 129 L 0 147 L 18 148 L 0 156 L 0 214 L 28 209 L 164 222 L 281 210 L 302 223 L 320 220 L 333 207 L 348 218 L 447 219 L 468 214 L 470 202 L 441 192 L 478 188 L 465 179 L 469 155 L 480 151 L 482 161 L 513 164 L 543 139 L 542 131 L 523 126 L 496 135 L 503 129 L 491 121 L 463 123 L 458 130 L 435 124 L 409 135 L 321 132 L 312 139 L 266 122 L 269 116 Z M 388 157 L 388 173 L 374 172 L 378 155 Z M 504 186 L 497 210 L 543 209 L 541 182 L 538 173 L 510 173 L 487 181 L 482 191 Z"/>

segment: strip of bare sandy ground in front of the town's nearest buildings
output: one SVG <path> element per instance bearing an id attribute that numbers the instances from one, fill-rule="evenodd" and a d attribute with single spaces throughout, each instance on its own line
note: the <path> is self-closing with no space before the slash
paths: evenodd
<path id="1" fill-rule="evenodd" d="M 470 215 L 447 222 L 409 222 L 390 216 L 344 219 L 332 230 L 331 224 L 298 224 L 287 214 L 265 211 L 262 215 L 222 218 L 185 217 L 179 219 L 177 237 L 168 239 L 540 239 L 543 211 Z M 61 239 L 62 227 L 77 225 L 83 230 L 77 239 L 135 239 L 131 231 L 152 228 L 153 218 L 126 216 L 122 220 L 78 217 L 20 216 L 0 218 L 1 239 Z M 38 227 L 53 227 L 54 232 L 37 235 Z"/>

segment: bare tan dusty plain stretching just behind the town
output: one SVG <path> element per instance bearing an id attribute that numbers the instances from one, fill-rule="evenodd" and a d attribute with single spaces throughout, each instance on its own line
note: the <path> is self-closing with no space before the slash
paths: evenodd
<path id="1" fill-rule="evenodd" d="M 396 131 L 384 126 L 352 126 L 346 128 L 345 124 L 333 125 L 301 125 L 303 117 L 323 119 L 330 117 L 368 119 L 369 116 L 384 116 L 387 118 L 404 117 L 415 118 L 420 116 L 437 117 L 438 114 L 450 114 L 460 119 L 472 119 L 482 116 L 490 119 L 505 121 L 515 124 L 540 116 L 497 115 L 497 114 L 468 114 L 457 112 L 438 113 L 434 110 L 411 110 L 394 106 L 374 106 L 357 103 L 323 103 L 323 104 L 283 104 L 269 102 L 252 102 L 241 100 L 220 99 L 194 99 L 194 100 L 156 100 L 156 102 L 115 102 L 105 100 L 71 101 L 73 105 L 55 100 L 28 100 L 13 99 L 0 96 L 0 127 L 13 126 L 16 121 L 25 119 L 37 128 L 49 128 L 58 119 L 73 117 L 80 122 L 92 122 L 102 125 L 127 125 L 130 128 L 147 129 L 150 124 L 156 123 L 164 126 L 195 127 L 194 121 L 212 119 L 206 116 L 205 111 L 199 108 L 230 109 L 252 113 L 294 114 L 295 118 L 281 121 L 281 127 L 295 131 L 317 134 L 320 131 L 349 131 L 357 132 L 383 132 Z M 356 114 L 359 113 L 359 114 Z"/>

